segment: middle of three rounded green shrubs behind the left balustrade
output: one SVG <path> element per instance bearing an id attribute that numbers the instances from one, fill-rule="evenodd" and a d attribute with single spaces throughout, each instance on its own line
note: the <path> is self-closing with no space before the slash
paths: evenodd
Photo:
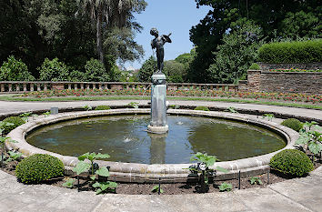
<path id="1" fill-rule="evenodd" d="M 70 79 L 68 67 L 58 58 L 49 60 L 45 58 L 42 66 L 38 67 L 39 79 L 45 81 L 67 81 Z"/>

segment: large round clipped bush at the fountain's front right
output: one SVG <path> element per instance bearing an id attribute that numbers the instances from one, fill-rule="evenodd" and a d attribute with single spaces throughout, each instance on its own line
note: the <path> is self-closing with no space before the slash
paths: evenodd
<path id="1" fill-rule="evenodd" d="M 297 149 L 285 149 L 270 159 L 269 166 L 292 176 L 302 177 L 313 170 L 308 156 Z"/>

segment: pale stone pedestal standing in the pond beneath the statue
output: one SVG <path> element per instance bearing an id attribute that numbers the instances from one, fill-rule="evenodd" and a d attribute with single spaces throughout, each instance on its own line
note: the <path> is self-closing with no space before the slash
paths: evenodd
<path id="1" fill-rule="evenodd" d="M 163 134 L 168 131 L 166 125 L 166 76 L 155 73 L 152 76 L 151 89 L 151 122 L 148 132 Z"/>

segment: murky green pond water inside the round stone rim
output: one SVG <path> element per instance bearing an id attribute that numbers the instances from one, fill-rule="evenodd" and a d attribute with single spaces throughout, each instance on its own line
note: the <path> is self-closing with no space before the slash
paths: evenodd
<path id="1" fill-rule="evenodd" d="M 267 129 L 235 121 L 167 116 L 169 132 L 146 132 L 150 116 L 100 116 L 61 122 L 37 129 L 29 144 L 65 156 L 86 152 L 107 153 L 108 160 L 144 163 L 189 163 L 196 152 L 221 161 L 264 155 L 286 146 L 281 136 Z"/>

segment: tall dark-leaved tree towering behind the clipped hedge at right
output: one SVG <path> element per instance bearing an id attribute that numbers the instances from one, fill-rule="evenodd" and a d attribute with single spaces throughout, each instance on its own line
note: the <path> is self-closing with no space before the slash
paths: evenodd
<path id="1" fill-rule="evenodd" d="M 194 82 L 206 82 L 206 70 L 216 57 L 212 53 L 223 44 L 223 36 L 229 29 L 238 23 L 251 21 L 258 25 L 265 41 L 288 36 L 321 36 L 322 5 L 319 0 L 195 1 L 197 6 L 209 5 L 213 9 L 190 30 L 190 40 L 196 45 L 196 59 L 191 65 L 195 74 L 190 75 Z"/>

